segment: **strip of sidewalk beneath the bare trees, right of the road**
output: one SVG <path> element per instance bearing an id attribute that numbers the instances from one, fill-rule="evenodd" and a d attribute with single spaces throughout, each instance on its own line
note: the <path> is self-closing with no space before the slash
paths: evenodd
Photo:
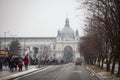
<path id="1" fill-rule="evenodd" d="M 120 78 L 117 78 L 114 74 L 101 70 L 97 66 L 87 65 L 86 69 L 94 74 L 94 76 L 96 76 L 98 80 L 120 80 Z"/>

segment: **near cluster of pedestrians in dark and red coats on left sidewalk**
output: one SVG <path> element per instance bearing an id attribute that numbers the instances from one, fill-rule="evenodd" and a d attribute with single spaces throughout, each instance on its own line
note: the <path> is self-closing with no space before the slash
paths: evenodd
<path id="1" fill-rule="evenodd" d="M 5 67 L 8 67 L 10 71 L 22 71 L 23 70 L 23 65 L 25 66 L 25 69 L 28 69 L 28 64 L 29 64 L 29 58 L 25 56 L 24 58 L 20 56 L 10 56 L 6 57 L 2 60 L 2 64 Z"/>

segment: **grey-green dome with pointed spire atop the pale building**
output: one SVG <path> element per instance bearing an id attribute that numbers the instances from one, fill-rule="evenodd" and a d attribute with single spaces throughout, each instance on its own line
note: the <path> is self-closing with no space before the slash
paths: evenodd
<path id="1" fill-rule="evenodd" d="M 63 36 L 63 37 L 65 37 L 65 36 L 74 37 L 74 31 L 69 25 L 69 19 L 68 18 L 66 18 L 66 20 L 65 20 L 65 26 L 61 31 L 61 36 Z"/>

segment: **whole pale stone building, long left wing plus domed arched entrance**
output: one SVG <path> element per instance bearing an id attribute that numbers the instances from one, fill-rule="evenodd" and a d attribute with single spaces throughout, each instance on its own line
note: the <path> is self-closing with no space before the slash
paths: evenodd
<path id="1" fill-rule="evenodd" d="M 33 48 L 38 47 L 37 57 L 47 56 L 67 60 L 80 57 L 78 52 L 79 32 L 78 30 L 74 32 L 70 27 L 68 18 L 65 20 L 64 28 L 61 31 L 58 30 L 57 37 L 6 37 L 6 40 L 0 38 L 1 49 L 4 48 L 5 44 L 9 47 L 10 42 L 16 39 L 21 43 L 22 55 L 29 54 L 33 56 Z"/>

